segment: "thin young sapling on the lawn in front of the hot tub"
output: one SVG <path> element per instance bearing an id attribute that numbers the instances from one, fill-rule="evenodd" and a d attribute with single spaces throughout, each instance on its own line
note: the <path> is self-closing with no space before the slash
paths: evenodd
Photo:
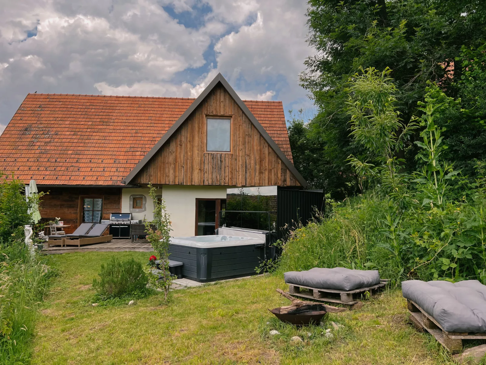
<path id="1" fill-rule="evenodd" d="M 150 280 L 150 283 L 162 289 L 162 292 L 164 292 L 164 301 L 167 302 L 172 283 L 172 276 L 169 271 L 169 242 L 172 231 L 171 217 L 167 213 L 164 199 L 157 197 L 156 188 L 152 184 L 148 186 L 150 188 L 149 195 L 154 202 L 154 220 L 150 222 L 145 221 L 145 232 L 147 233 L 147 239 L 160 260 L 160 277 L 158 280 Z M 151 274 L 152 270 L 151 268 Z"/>

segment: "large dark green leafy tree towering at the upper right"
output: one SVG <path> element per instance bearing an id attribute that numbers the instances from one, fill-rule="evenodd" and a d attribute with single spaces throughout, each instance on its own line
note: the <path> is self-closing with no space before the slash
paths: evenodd
<path id="1" fill-rule="evenodd" d="M 345 108 L 347 82 L 360 67 L 393 70 L 396 107 L 406 125 L 428 80 L 456 97 L 462 67 L 454 59 L 462 45 L 485 38 L 485 14 L 479 0 L 310 0 L 308 42 L 317 54 L 306 60 L 300 80 L 319 110 L 308 129 L 326 146 L 324 158 L 339 169 L 350 154 L 366 153 L 351 143 Z M 415 138 L 396 151 L 408 170 L 416 167 Z"/>

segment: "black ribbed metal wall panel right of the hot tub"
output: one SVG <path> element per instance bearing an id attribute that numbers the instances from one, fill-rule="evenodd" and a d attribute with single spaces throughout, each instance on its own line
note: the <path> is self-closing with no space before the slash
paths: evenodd
<path id="1" fill-rule="evenodd" d="M 325 196 L 322 191 L 278 189 L 277 235 L 285 239 L 290 229 L 306 225 L 316 218 L 316 212 L 324 214 Z"/>

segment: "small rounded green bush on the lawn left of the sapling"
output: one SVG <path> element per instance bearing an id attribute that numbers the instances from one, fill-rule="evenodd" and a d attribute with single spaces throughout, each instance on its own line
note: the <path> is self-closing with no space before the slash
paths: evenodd
<path id="1" fill-rule="evenodd" d="M 101 265 L 100 281 L 93 280 L 93 288 L 102 299 L 140 296 L 148 293 L 148 278 L 142 264 L 133 258 L 120 261 L 112 257 L 105 266 Z"/>

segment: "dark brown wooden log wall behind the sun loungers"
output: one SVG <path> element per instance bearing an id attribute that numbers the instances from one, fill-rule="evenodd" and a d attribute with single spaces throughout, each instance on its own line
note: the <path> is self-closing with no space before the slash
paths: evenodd
<path id="1" fill-rule="evenodd" d="M 103 187 L 41 187 L 39 191 L 49 192 L 41 198 L 40 216 L 42 218 L 59 217 L 65 224 L 66 233 L 72 233 L 81 222 L 80 209 L 83 202 L 80 197 L 103 197 L 103 218 L 110 219 L 111 213 L 121 212 L 121 189 Z"/>

